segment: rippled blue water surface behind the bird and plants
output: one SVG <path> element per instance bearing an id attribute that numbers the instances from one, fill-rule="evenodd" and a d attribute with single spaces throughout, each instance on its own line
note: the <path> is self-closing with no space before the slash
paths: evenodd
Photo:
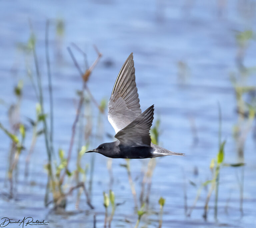
<path id="1" fill-rule="evenodd" d="M 155 105 L 155 119 L 161 120 L 160 145 L 167 149 L 186 153 L 185 157 L 168 156 L 157 159 L 152 179 L 150 210 L 142 217 L 140 226 L 157 227 L 158 199 L 166 199 L 162 227 L 256 227 L 255 212 L 255 140 L 252 131 L 245 143 L 244 215 L 239 211 L 239 186 L 237 176 L 241 168 L 221 169 L 219 186 L 218 223 L 213 216 L 214 194 L 209 203 L 208 221 L 202 218 L 207 191 L 201 197 L 190 218 L 184 215 L 184 183 L 187 189 L 187 204 L 190 207 L 196 197 L 200 183 L 211 178 L 209 164 L 218 151 L 218 102 L 222 110 L 222 136 L 227 140 L 225 162 L 237 162 L 236 142 L 232 136 L 237 123 L 236 99 L 230 82 L 230 73 L 237 72 L 236 31 L 256 31 L 255 2 L 227 1 L 223 8 L 218 2 L 225 1 L 1 1 L 0 2 L 0 121 L 8 127 L 8 107 L 15 102 L 13 88 L 19 79 L 24 81 L 20 116 L 35 118 L 36 98 L 26 76 L 26 63 L 33 70 L 33 59 L 27 58 L 17 47 L 29 39 L 31 21 L 36 34 L 36 48 L 43 80 L 46 112 L 49 111 L 47 68 L 45 61 L 45 22 L 50 24 L 50 59 L 54 96 L 54 147 L 68 150 L 71 126 L 76 114 L 82 80 L 67 52 L 71 42 L 76 43 L 87 54 L 91 65 L 97 57 L 95 44 L 103 54 L 88 82 L 98 102 L 109 99 L 117 74 L 128 55 L 134 53 L 136 83 L 140 105 L 144 111 Z M 61 44 L 56 41 L 56 19 L 65 23 Z M 56 53 L 58 45 L 62 59 Z M 83 56 L 74 51 L 79 64 L 85 69 Z M 251 41 L 245 53 L 244 64 L 254 66 L 256 44 Z M 184 78 L 179 77 L 179 62 L 185 65 Z M 180 64 L 181 65 L 181 64 Z M 247 78 L 247 85 L 255 86 L 255 73 Z M 3 104 L 2 104 L 3 103 Z M 92 104 L 93 134 L 97 133 L 98 111 Z M 90 147 L 110 141 L 105 133 L 114 135 L 114 130 L 104 122 L 104 137 L 92 139 Z M 198 143 L 193 143 L 191 125 L 194 124 Z M 29 148 L 32 130 L 25 142 Z M 20 219 L 32 216 L 49 221 L 48 227 L 92 227 L 96 213 L 97 227 L 104 222 L 103 191 L 109 189 L 107 158 L 95 154 L 95 172 L 92 203 L 95 210 L 81 198 L 80 210 L 75 209 L 76 194 L 68 197 L 67 213 L 55 214 L 44 207 L 47 174 L 43 166 L 47 163 L 44 139 L 38 139 L 31 158 L 29 185 L 24 181 L 24 150 L 19 163 L 19 182 L 15 199 L 5 197 L 6 169 L 8 167 L 9 139 L 0 131 L 2 217 Z M 73 151 L 77 149 L 75 143 Z M 83 156 L 83 165 L 90 162 L 90 154 Z M 76 154 L 73 152 L 70 169 L 75 169 Z M 126 170 L 120 166 L 124 160 L 112 161 L 117 208 L 112 227 L 134 227 L 137 216 L 128 183 Z M 137 195 L 140 193 L 141 167 L 148 160 L 131 160 L 131 172 Z M 198 175 L 194 169 L 197 167 Z M 189 184 L 195 182 L 197 187 Z M 65 190 L 72 185 L 69 180 Z M 150 212 L 152 211 L 152 213 Z M 129 222 L 127 222 L 129 221 Z M 11 227 L 11 225 L 8 225 Z M 13 225 L 13 227 L 16 227 Z"/>

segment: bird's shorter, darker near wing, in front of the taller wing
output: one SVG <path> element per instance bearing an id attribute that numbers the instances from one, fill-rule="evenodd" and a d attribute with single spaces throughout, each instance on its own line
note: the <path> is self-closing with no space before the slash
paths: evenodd
<path id="1" fill-rule="evenodd" d="M 117 132 L 115 137 L 122 145 L 150 146 L 150 127 L 154 118 L 154 105 L 146 109 L 125 128 Z"/>

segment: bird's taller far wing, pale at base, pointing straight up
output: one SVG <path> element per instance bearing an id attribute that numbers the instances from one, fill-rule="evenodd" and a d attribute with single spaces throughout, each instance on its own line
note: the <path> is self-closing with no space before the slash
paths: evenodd
<path id="1" fill-rule="evenodd" d="M 141 114 L 139 102 L 131 53 L 117 76 L 108 103 L 108 121 L 116 133 Z"/>

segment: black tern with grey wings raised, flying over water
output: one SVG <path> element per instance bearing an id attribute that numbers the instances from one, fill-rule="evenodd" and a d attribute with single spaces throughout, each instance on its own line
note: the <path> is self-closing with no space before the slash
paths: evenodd
<path id="1" fill-rule="evenodd" d="M 108 120 L 117 138 L 106 142 L 96 152 L 111 158 L 153 158 L 166 155 L 183 155 L 169 151 L 151 142 L 149 130 L 154 115 L 154 105 L 141 113 L 139 95 L 135 83 L 133 53 L 123 64 L 108 103 Z"/>

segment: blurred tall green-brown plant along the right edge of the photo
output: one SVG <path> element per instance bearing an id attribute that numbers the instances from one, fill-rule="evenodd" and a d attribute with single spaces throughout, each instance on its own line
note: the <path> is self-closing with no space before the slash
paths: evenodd
<path id="1" fill-rule="evenodd" d="M 247 136 L 252 128 L 253 120 L 255 118 L 255 86 L 247 85 L 246 80 L 249 76 L 256 72 L 256 67 L 246 67 L 244 64 L 245 53 L 250 43 L 255 40 L 255 33 L 252 30 L 245 30 L 236 34 L 237 42 L 237 56 L 236 65 L 237 72 L 230 74 L 230 80 L 233 85 L 236 103 L 238 120 L 234 125 L 234 138 L 237 144 L 238 162 L 244 162 L 244 144 Z M 250 99 L 245 101 L 245 96 Z M 241 169 L 240 180 L 240 211 L 243 214 L 243 191 L 244 191 L 244 168 Z"/>

